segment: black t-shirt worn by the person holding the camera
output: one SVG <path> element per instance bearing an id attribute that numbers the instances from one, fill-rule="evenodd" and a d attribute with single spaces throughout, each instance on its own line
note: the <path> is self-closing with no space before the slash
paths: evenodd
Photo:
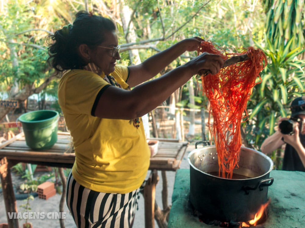
<path id="1" fill-rule="evenodd" d="M 305 135 L 300 134 L 300 141 L 302 142 L 303 147 L 305 147 Z M 285 147 L 282 170 L 305 172 L 305 167 L 303 166 L 299 154 L 288 143 L 286 144 Z"/>

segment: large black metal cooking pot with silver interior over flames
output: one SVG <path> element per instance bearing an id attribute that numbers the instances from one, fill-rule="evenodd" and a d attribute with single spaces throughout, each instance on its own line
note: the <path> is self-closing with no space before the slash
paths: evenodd
<path id="1" fill-rule="evenodd" d="M 190 200 L 204 218 L 222 222 L 244 222 L 254 219 L 260 206 L 267 202 L 269 173 L 273 162 L 265 154 L 241 147 L 239 168 L 233 174 L 248 178 L 226 179 L 209 174 L 218 172 L 215 146 L 193 150 L 190 164 Z"/>

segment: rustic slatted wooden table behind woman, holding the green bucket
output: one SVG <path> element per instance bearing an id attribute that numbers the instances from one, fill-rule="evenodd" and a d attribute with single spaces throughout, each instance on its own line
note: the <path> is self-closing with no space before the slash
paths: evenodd
<path id="1" fill-rule="evenodd" d="M 146 179 L 143 196 L 145 203 L 145 227 L 154 227 L 154 218 L 159 227 L 167 227 L 167 215 L 170 206 L 167 206 L 167 181 L 165 171 L 176 171 L 180 168 L 181 160 L 185 154 L 188 142 L 179 142 L 176 139 L 160 139 L 158 153 L 150 158 L 149 177 Z M 75 160 L 74 151 L 70 151 L 70 133 L 58 132 L 58 140 L 48 150 L 33 151 L 25 142 L 23 133 L 0 145 L 0 175 L 5 201 L 6 212 L 17 212 L 16 199 L 13 191 L 13 183 L 10 168 L 17 163 L 40 164 L 52 167 L 72 168 Z M 155 201 L 156 184 L 159 180 L 157 171 L 161 171 L 163 178 L 161 210 Z M 64 196 L 65 194 L 63 194 Z M 9 219 L 10 228 L 18 228 L 18 219 Z"/>

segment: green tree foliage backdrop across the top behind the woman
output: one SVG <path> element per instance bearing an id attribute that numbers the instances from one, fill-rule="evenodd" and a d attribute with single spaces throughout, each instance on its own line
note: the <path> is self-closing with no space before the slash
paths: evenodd
<path id="1" fill-rule="evenodd" d="M 53 70 L 46 63 L 46 38 L 73 22 L 79 10 L 88 8 L 113 19 L 118 26 L 119 42 L 126 45 L 120 19 L 124 4 L 133 13 L 137 42 L 146 40 L 145 44 L 155 47 L 139 49 L 141 60 L 192 36 L 210 40 L 227 51 L 238 52 L 249 46 L 265 51 L 268 65 L 261 73 L 262 83 L 253 89 L 248 102 L 249 119 L 243 125 L 246 140 L 258 150 L 262 141 L 274 132 L 278 117 L 289 115 L 289 102 L 304 93 L 304 4 L 300 0 L 86 2 L 87 5 L 59 0 L 16 0 L 8 1 L 8 5 L 0 9 L 0 88 L 3 93 L 10 93 L 16 84 L 20 90 L 26 85 L 38 87 L 52 75 Z M 191 53 L 189 58 L 196 55 L 196 52 Z M 179 57 L 165 71 L 186 61 L 188 58 Z M 128 52 L 121 53 L 120 63 L 128 65 L 130 62 Z M 196 107 L 207 108 L 199 85 L 194 86 Z M 42 93 L 56 97 L 56 88 L 54 80 Z M 180 104 L 188 106 L 187 87 L 183 88 L 181 97 Z"/>

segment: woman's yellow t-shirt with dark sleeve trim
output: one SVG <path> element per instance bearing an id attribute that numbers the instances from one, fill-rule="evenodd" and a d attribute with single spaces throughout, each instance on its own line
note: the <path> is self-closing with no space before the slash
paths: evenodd
<path id="1" fill-rule="evenodd" d="M 114 84 L 127 89 L 128 68 L 116 66 Z M 110 86 L 104 75 L 71 70 L 59 82 L 58 101 L 73 137 L 74 179 L 97 192 L 128 193 L 139 188 L 149 168 L 150 150 L 143 123 L 92 115 L 103 91 Z"/>

